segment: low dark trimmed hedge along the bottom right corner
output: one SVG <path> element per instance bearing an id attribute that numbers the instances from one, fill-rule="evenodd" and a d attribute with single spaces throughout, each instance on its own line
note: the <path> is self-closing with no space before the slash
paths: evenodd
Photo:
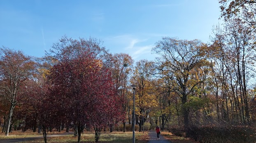
<path id="1" fill-rule="evenodd" d="M 200 143 L 255 143 L 256 128 L 231 125 L 190 127 L 188 136 Z"/>

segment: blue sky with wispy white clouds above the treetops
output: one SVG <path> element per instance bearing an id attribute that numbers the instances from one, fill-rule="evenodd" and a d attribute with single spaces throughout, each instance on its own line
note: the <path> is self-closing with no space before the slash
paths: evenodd
<path id="1" fill-rule="evenodd" d="M 62 36 L 102 40 L 111 53 L 153 60 L 163 36 L 209 42 L 218 0 L 0 0 L 0 46 L 44 56 Z"/>

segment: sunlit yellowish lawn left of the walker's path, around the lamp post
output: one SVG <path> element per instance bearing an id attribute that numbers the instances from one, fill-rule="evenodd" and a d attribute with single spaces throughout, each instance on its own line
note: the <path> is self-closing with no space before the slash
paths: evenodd
<path id="1" fill-rule="evenodd" d="M 64 133 L 62 131 L 61 133 Z M 47 134 L 59 134 L 59 132 L 49 132 Z M 5 136 L 4 133 L 0 133 L 0 139 L 9 139 L 9 138 L 26 138 L 26 137 L 35 137 L 35 136 L 42 136 L 42 134 L 33 133 L 32 130 L 28 130 L 26 132 L 21 131 L 14 131 L 9 133 L 9 136 Z M 133 132 L 102 132 L 99 138 L 99 143 L 131 143 L 133 138 Z M 139 133 L 135 132 L 135 139 L 136 143 L 147 143 L 149 140 L 149 136 L 147 132 Z M 87 132 L 85 131 L 84 134 L 81 134 L 81 143 L 94 143 L 94 132 Z M 25 142 L 24 142 L 25 143 Z M 40 138 L 33 141 L 26 141 L 26 143 L 44 143 L 44 139 Z M 47 137 L 47 143 L 77 143 L 77 137 L 73 135 L 67 136 L 59 136 L 59 137 Z"/>

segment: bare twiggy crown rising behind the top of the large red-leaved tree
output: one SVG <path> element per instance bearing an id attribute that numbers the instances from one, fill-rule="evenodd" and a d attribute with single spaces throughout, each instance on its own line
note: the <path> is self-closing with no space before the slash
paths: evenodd
<path id="1" fill-rule="evenodd" d="M 111 64 L 109 62 L 111 60 L 109 53 L 102 46 L 102 41 L 92 37 L 89 39 L 72 39 L 63 36 L 59 42 L 52 45 L 52 48 L 46 54 L 48 59 L 55 60 L 55 63 L 57 63 L 63 60 L 76 59 L 79 55 L 85 53 L 89 56 L 91 54 L 95 59 L 101 60 L 105 66 Z"/>

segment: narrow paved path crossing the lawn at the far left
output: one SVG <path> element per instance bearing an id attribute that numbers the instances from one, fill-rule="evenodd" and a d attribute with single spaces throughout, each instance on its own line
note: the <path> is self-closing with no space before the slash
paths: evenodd
<path id="1" fill-rule="evenodd" d="M 53 134 L 53 135 L 47 135 L 48 137 L 55 137 L 55 136 L 66 136 L 68 134 L 74 134 L 72 132 L 70 133 L 63 133 L 63 134 Z M 19 143 L 19 142 L 24 142 L 24 141 L 31 141 L 39 138 L 44 138 L 44 136 L 36 136 L 36 137 L 30 137 L 30 138 L 12 138 L 12 139 L 0 139 L 0 143 Z"/>

